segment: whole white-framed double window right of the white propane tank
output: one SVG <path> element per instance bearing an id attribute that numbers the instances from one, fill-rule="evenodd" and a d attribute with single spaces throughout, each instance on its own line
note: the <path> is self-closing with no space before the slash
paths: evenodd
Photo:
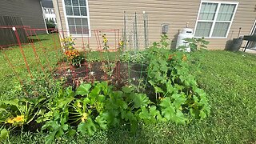
<path id="1" fill-rule="evenodd" d="M 202 2 L 194 36 L 226 38 L 237 6 L 238 2 Z"/>

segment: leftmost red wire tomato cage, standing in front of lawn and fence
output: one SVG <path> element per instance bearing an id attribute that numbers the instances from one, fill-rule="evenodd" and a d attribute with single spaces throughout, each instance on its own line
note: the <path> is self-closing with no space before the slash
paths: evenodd
<path id="1" fill-rule="evenodd" d="M 59 53 L 58 34 L 46 34 L 46 29 L 31 29 L 30 26 L 0 26 L 0 31 L 1 55 L 6 60 L 3 66 L 8 67 L 6 78 L 16 78 L 22 83 L 34 78 L 34 74 L 54 69 L 49 55 Z"/>

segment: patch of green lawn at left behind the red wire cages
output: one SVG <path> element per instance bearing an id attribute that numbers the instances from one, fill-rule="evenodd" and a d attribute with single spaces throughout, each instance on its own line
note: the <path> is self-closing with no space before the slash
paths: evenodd
<path id="1" fill-rule="evenodd" d="M 26 58 L 27 65 L 30 68 L 30 73 L 41 73 L 42 70 L 50 71 L 56 66 L 59 59 L 59 53 L 56 53 L 60 46 L 58 42 L 54 42 L 53 38 L 58 38 L 57 34 L 42 34 L 38 35 L 41 42 L 34 42 L 34 47 L 38 58 L 36 57 L 33 46 L 31 44 L 22 45 L 22 50 Z M 37 38 L 31 37 L 36 40 Z M 10 62 L 8 62 L 8 59 Z M 6 48 L 0 51 L 0 95 L 2 98 L 12 98 L 10 91 L 18 86 L 19 78 L 21 81 L 30 78 L 30 73 L 26 68 L 26 62 L 22 56 L 22 52 L 18 46 Z M 14 66 L 14 69 L 12 66 Z M 15 70 L 15 72 L 14 72 Z M 15 74 L 16 73 L 16 74 Z"/>

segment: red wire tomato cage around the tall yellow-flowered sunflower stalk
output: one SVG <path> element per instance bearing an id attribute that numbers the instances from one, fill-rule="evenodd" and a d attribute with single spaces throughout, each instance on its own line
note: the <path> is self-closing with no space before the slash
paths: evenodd
<path id="1" fill-rule="evenodd" d="M 120 36 L 119 30 L 59 30 L 62 39 L 74 40 L 74 47 L 84 58 L 79 65 L 72 63 L 67 66 L 62 61 L 55 74 L 64 76 L 68 82 L 78 85 L 80 82 L 120 80 Z M 63 42 L 62 42 L 63 47 Z M 63 50 L 64 52 L 64 50 Z M 72 81 L 71 81 L 72 79 Z"/>

